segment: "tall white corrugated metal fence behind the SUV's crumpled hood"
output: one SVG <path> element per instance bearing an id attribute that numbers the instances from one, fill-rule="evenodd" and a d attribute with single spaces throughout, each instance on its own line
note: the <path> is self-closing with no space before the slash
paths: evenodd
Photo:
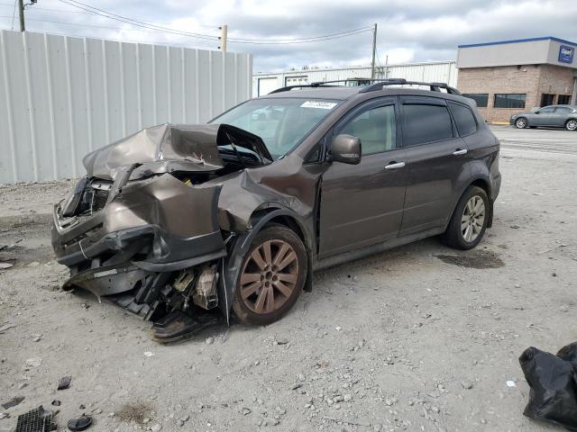
<path id="1" fill-rule="evenodd" d="M 249 99 L 252 57 L 0 31 L 0 184 L 82 175 L 90 150 Z"/>

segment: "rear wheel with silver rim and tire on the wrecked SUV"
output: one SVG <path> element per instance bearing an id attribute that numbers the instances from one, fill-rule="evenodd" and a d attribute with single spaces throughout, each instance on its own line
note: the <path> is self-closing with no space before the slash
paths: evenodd
<path id="1" fill-rule="evenodd" d="M 448 247 L 471 249 L 479 244 L 489 221 L 489 197 L 478 186 L 469 186 L 453 211 L 441 240 Z"/>

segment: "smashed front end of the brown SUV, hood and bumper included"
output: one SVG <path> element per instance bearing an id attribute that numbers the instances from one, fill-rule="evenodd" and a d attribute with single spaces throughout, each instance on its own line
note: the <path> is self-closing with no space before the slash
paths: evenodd
<path id="1" fill-rule="evenodd" d="M 270 161 L 260 139 L 247 134 L 227 125 L 164 124 L 88 154 L 87 176 L 53 211 L 52 246 L 70 268 L 63 288 L 85 289 L 145 320 L 164 319 L 165 333 L 175 325 L 170 312 L 217 307 L 218 264 L 232 234 L 217 221 L 222 185 L 206 182 L 252 159 Z M 235 145 L 248 148 L 248 162 L 223 160 Z"/>

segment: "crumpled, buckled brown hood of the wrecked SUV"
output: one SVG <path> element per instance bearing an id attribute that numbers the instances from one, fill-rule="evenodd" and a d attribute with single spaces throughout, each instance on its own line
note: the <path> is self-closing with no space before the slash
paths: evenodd
<path id="1" fill-rule="evenodd" d="M 122 166 L 138 166 L 131 178 L 172 171 L 215 171 L 223 167 L 218 146 L 231 141 L 272 160 L 262 139 L 228 124 L 160 124 L 88 153 L 88 177 L 111 180 Z"/>

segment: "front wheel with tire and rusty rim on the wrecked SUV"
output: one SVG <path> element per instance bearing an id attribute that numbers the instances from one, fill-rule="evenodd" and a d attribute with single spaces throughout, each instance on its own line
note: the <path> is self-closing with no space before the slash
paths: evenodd
<path id="1" fill-rule="evenodd" d="M 236 281 L 233 311 L 245 324 L 265 326 L 297 302 L 307 279 L 307 249 L 297 234 L 271 224 L 259 232 Z"/>

